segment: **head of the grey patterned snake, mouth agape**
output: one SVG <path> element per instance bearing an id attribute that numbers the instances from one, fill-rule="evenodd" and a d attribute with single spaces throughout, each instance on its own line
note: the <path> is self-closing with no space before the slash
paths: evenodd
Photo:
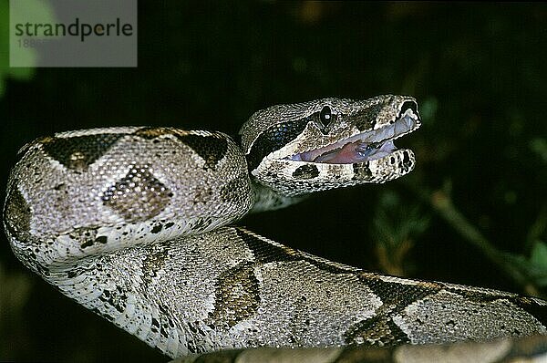
<path id="1" fill-rule="evenodd" d="M 394 140 L 420 126 L 416 99 L 318 99 L 260 110 L 243 125 L 255 181 L 285 196 L 397 179 L 414 169 Z"/>

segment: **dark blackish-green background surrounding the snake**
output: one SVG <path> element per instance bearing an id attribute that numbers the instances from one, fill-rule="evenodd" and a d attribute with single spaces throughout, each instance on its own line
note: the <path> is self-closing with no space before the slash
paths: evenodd
<path id="1" fill-rule="evenodd" d="M 239 224 L 368 270 L 543 296 L 546 56 L 544 4 L 139 2 L 139 67 L 5 77 L 2 190 L 16 151 L 57 131 L 235 134 L 278 103 L 408 94 L 423 125 L 397 145 L 415 150 L 416 171 Z M 439 213 L 447 200 L 468 223 Z M 466 231 L 509 254 L 494 263 Z M 0 360 L 168 360 L 61 296 L 0 242 Z"/>

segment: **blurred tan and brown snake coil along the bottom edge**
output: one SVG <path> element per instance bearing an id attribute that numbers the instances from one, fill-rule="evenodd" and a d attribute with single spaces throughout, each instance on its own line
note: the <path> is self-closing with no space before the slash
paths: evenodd
<path id="1" fill-rule="evenodd" d="M 178 358 L 171 363 L 524 363 L 547 361 L 547 337 L 501 338 L 488 342 L 399 347 L 308 347 L 233 349 Z"/>

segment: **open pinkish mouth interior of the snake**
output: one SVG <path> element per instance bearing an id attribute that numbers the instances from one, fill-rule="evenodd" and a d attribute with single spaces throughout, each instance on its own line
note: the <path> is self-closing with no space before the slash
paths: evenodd
<path id="1" fill-rule="evenodd" d="M 287 159 L 329 164 L 350 164 L 381 159 L 397 150 L 393 140 L 418 129 L 418 126 L 418 115 L 408 108 L 391 125 L 377 130 L 369 130 L 319 149 L 290 156 Z"/>

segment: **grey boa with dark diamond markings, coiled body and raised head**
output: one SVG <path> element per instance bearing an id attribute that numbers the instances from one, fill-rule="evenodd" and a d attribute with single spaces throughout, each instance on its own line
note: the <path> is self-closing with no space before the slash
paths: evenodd
<path id="1" fill-rule="evenodd" d="M 48 283 L 171 358 L 251 347 L 397 346 L 545 335 L 546 303 L 378 275 L 240 227 L 250 211 L 414 168 L 393 140 L 415 99 L 263 109 L 221 132 L 121 127 L 20 150 L 5 231 Z"/>

